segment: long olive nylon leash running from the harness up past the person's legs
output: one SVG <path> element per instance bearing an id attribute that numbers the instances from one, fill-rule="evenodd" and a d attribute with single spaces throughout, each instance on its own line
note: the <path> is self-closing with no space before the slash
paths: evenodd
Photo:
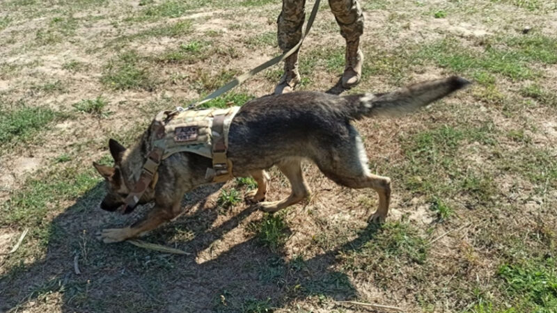
<path id="1" fill-rule="evenodd" d="M 205 99 L 201 100 L 200 102 L 196 102 L 196 103 L 191 104 L 190 107 L 199 106 L 199 105 L 204 104 L 205 102 L 208 102 L 208 101 L 210 101 L 210 100 L 212 100 L 216 97 L 219 97 L 223 93 L 226 93 L 228 90 L 230 90 L 230 89 L 240 85 L 244 81 L 248 80 L 250 77 L 257 74 L 258 72 L 261 72 L 262 70 L 265 70 L 266 68 L 271 67 L 272 65 L 275 65 L 276 63 L 284 61 L 285 58 L 288 58 L 293 53 L 295 53 L 299 49 L 299 47 L 301 46 L 301 43 L 304 42 L 304 39 L 306 38 L 306 35 L 308 35 L 309 30 L 311 29 L 311 26 L 313 25 L 313 21 L 315 20 L 315 16 L 317 15 L 317 11 L 319 10 L 319 3 L 320 3 L 320 0 L 315 0 L 315 3 L 313 3 L 313 9 L 311 10 L 311 14 L 309 15 L 309 18 L 308 18 L 308 23 L 306 24 L 306 30 L 304 31 L 304 34 L 301 36 L 300 41 L 297 43 L 297 45 L 292 47 L 292 49 L 290 49 L 289 51 L 286 51 L 284 54 L 281 54 L 280 56 L 276 56 L 276 57 L 272 58 L 271 60 L 259 65 L 258 67 L 255 67 L 253 70 L 251 70 L 249 72 L 245 72 L 244 74 L 236 77 L 232 81 L 229 81 L 226 85 L 222 86 L 221 88 L 215 90 L 213 93 L 211 93 L 210 95 L 205 97 Z"/>

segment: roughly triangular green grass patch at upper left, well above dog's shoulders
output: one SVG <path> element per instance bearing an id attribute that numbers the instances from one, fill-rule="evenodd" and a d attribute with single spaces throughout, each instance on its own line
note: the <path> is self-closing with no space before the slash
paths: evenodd
<path id="1" fill-rule="evenodd" d="M 116 90 L 152 91 L 155 88 L 155 81 L 150 77 L 146 67 L 141 65 L 141 58 L 135 51 L 128 51 L 110 61 L 101 82 Z"/>

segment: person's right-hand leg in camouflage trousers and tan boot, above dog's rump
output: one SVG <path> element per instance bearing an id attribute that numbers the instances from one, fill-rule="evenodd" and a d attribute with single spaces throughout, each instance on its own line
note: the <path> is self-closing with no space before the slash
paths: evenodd
<path id="1" fill-rule="evenodd" d="M 363 33 L 363 14 L 358 0 L 329 0 L 340 35 L 346 40 L 346 65 L 343 73 L 343 87 L 352 88 L 360 82 L 363 54 L 360 50 L 360 36 Z"/>

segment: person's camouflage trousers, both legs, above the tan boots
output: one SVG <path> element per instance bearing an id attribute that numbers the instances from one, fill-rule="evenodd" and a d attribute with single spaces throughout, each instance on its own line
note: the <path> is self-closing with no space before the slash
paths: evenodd
<path id="1" fill-rule="evenodd" d="M 301 38 L 301 27 L 306 18 L 306 0 L 283 0 L 281 15 L 278 15 L 278 47 L 288 51 Z M 356 41 L 363 33 L 363 14 L 358 0 L 329 0 L 340 35 L 347 42 Z"/>

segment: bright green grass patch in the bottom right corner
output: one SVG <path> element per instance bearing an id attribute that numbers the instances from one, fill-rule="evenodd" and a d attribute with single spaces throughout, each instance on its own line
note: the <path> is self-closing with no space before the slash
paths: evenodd
<path id="1" fill-rule="evenodd" d="M 512 298 L 517 312 L 556 312 L 557 262 L 554 258 L 528 259 L 503 264 L 499 277 L 503 290 Z"/>

